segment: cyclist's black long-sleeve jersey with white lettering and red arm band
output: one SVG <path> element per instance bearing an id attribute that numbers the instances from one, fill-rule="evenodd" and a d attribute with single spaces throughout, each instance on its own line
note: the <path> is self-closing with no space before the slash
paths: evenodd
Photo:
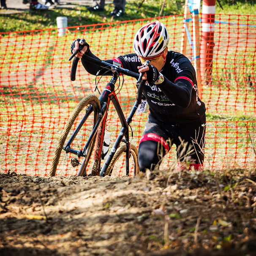
<path id="1" fill-rule="evenodd" d="M 87 54 L 97 58 L 90 52 Z M 107 60 L 121 63 L 123 68 L 138 72 L 142 65 L 136 54 L 127 54 Z M 96 74 L 100 67 L 82 59 L 84 68 L 90 74 Z M 144 86 L 144 95 L 149 104 L 150 113 L 162 123 L 170 125 L 188 125 L 200 123 L 205 116 L 205 105 L 198 97 L 196 72 L 193 65 L 183 54 L 169 51 L 161 70 L 164 76 L 162 84 Z"/>

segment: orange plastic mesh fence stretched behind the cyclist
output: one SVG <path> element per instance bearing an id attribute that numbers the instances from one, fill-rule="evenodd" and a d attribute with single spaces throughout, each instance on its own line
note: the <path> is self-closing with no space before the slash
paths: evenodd
<path id="1" fill-rule="evenodd" d="M 157 18 L 155 18 L 157 19 Z M 154 19 L 154 20 L 155 20 Z M 180 51 L 183 16 L 159 18 L 169 30 L 169 49 Z M 212 74 L 202 81 L 207 106 L 205 168 L 255 167 L 256 16 L 215 15 Z M 150 19 L 0 34 L 0 171 L 47 175 L 63 127 L 77 102 L 95 89 L 95 77 L 79 63 L 70 81 L 70 45 L 86 38 L 92 52 L 111 59 L 133 52 L 136 31 Z M 188 42 L 193 35 L 188 26 Z M 186 55 L 193 59 L 188 44 Z M 106 85 L 102 77 L 99 89 Z M 122 82 L 122 78 L 121 78 Z M 136 96 L 135 79 L 125 77 L 118 97 L 125 115 Z M 228 115 L 226 115 L 228 114 Z M 226 118 L 225 118 L 226 117 Z M 135 116 L 133 144 L 139 144 L 147 113 Z M 108 130 L 119 131 L 111 105 Z M 163 166 L 176 164 L 175 149 Z"/>

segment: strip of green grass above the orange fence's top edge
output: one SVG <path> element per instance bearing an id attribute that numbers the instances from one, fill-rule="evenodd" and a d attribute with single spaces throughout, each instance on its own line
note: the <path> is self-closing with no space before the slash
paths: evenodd
<path id="1" fill-rule="evenodd" d="M 202 1 L 201 1 L 202 2 Z M 256 0 L 221 0 L 220 5 L 216 1 L 216 14 L 256 14 Z M 122 20 L 154 18 L 160 15 L 163 0 L 127 1 L 125 14 Z M 185 0 L 166 0 L 161 16 L 172 14 L 183 14 Z M 141 5 L 141 7 L 140 7 Z M 99 13 L 90 13 L 84 5 L 65 5 L 65 7 L 54 8 L 46 11 L 25 11 L 18 14 L 1 14 L 0 32 L 14 32 L 25 30 L 41 30 L 56 28 L 58 16 L 68 17 L 68 26 L 82 26 L 110 22 L 110 12 L 113 4 L 107 4 L 105 10 Z M 3 12 L 3 11 L 2 11 Z"/>

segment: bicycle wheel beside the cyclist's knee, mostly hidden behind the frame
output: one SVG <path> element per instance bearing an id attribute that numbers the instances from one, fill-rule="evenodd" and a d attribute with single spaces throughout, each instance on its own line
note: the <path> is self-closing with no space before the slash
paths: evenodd
<path id="1" fill-rule="evenodd" d="M 114 154 L 105 175 L 124 176 L 126 175 L 125 166 L 126 145 L 122 145 Z M 129 176 L 135 176 L 139 173 L 138 150 L 131 144 L 129 156 Z"/>

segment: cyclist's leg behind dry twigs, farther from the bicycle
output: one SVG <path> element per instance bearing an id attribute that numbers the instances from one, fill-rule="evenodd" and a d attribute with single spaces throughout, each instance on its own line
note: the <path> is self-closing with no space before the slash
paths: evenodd
<path id="1" fill-rule="evenodd" d="M 175 128 L 177 161 L 180 169 L 202 170 L 204 166 L 205 120 L 191 128 Z M 177 137 L 179 139 L 177 139 Z M 180 142 L 182 140 L 182 142 Z"/>

